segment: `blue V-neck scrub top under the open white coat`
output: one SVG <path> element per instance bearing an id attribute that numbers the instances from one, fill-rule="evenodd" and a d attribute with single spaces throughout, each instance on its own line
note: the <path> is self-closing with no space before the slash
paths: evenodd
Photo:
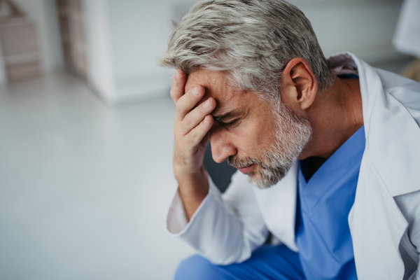
<path id="1" fill-rule="evenodd" d="M 357 279 L 348 216 L 364 151 L 361 127 L 309 181 L 299 170 L 296 243 L 308 280 Z"/>

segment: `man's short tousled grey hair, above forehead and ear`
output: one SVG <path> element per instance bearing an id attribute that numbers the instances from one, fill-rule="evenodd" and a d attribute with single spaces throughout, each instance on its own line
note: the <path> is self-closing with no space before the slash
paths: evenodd
<path id="1" fill-rule="evenodd" d="M 328 60 L 301 10 L 281 0 L 207 0 L 176 25 L 160 65 L 225 71 L 239 90 L 279 102 L 281 73 L 295 57 L 308 62 L 318 92 L 332 85 Z"/>

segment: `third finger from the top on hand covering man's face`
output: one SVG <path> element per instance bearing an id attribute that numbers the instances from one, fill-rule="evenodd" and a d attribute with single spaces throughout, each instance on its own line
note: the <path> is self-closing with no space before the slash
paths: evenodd
<path id="1" fill-rule="evenodd" d="M 185 135 L 199 125 L 216 107 L 216 100 L 207 99 L 205 102 L 193 109 L 183 118 L 179 127 L 180 132 Z M 213 119 L 213 118 L 212 118 Z"/>

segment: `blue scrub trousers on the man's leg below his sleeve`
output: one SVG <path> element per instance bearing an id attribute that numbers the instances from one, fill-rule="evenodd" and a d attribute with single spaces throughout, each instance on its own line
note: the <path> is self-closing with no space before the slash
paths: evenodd
<path id="1" fill-rule="evenodd" d="M 262 246 L 233 265 L 213 265 L 200 255 L 181 262 L 175 280 L 304 280 L 297 253 L 284 245 Z"/>

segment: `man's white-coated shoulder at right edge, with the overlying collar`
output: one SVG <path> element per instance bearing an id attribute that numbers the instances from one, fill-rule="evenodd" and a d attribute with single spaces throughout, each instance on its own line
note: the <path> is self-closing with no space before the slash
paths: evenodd
<path id="1" fill-rule="evenodd" d="M 395 73 L 360 66 L 365 159 L 393 197 L 420 190 L 420 84 Z"/>

